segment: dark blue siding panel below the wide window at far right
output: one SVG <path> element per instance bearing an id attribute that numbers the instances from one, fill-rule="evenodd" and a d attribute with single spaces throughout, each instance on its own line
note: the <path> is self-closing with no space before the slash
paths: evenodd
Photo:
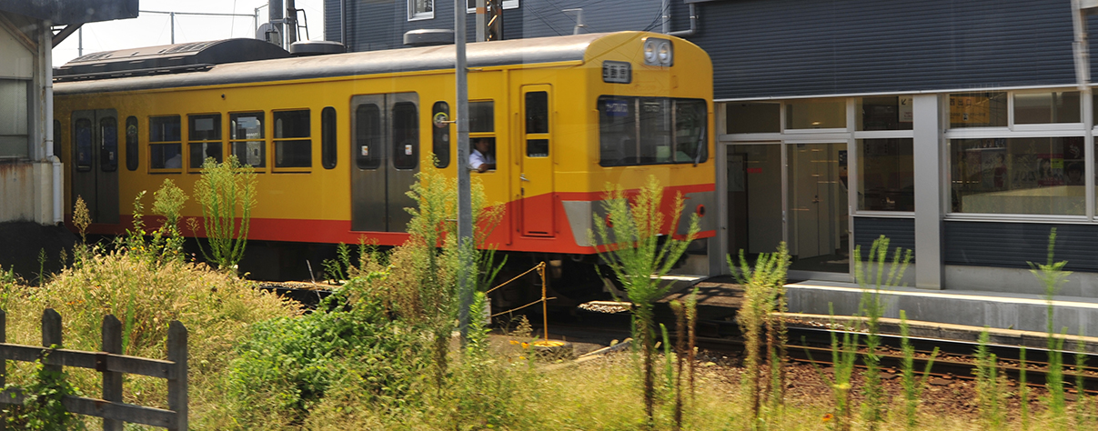
<path id="1" fill-rule="evenodd" d="M 1055 260 L 1068 271 L 1098 271 L 1098 226 L 1042 223 L 945 222 L 945 264 L 1030 268 L 1049 259 L 1049 232 L 1056 228 Z"/>

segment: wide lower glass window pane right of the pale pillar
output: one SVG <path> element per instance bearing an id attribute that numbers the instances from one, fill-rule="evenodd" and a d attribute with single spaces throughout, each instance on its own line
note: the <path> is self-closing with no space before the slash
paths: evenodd
<path id="1" fill-rule="evenodd" d="M 954 213 L 1084 215 L 1082 137 L 950 141 Z"/>

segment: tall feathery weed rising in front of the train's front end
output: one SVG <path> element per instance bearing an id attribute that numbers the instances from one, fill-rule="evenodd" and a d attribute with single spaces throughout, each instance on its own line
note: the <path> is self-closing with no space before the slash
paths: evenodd
<path id="1" fill-rule="evenodd" d="M 640 343 L 645 413 L 649 423 L 653 420 L 656 408 L 653 307 L 657 299 L 666 295 L 671 285 L 661 277 L 671 271 L 698 231 L 697 215 L 692 214 L 682 239 L 664 237 L 663 232 L 671 230 L 674 234 L 679 226 L 679 216 L 684 207 L 683 196 L 674 197 L 670 219 L 665 219 L 662 205 L 663 188 L 656 177 L 649 177 L 647 184 L 632 196 L 627 196 L 620 188 L 607 184 L 604 209 L 608 223 L 595 217 L 597 242 L 592 241 L 603 245 L 604 261 L 632 303 L 634 340 Z"/>

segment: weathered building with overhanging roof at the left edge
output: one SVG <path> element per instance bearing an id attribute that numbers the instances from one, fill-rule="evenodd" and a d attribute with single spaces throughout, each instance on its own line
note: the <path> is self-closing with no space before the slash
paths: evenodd
<path id="1" fill-rule="evenodd" d="M 56 261 L 66 235 L 53 136 L 52 50 L 83 23 L 137 16 L 138 0 L 0 0 L 0 266 Z M 117 155 L 100 155 L 117 157 Z M 53 266 L 53 265 L 51 265 Z"/>

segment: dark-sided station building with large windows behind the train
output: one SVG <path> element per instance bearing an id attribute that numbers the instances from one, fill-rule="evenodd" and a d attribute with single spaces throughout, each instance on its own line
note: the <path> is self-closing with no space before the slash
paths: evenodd
<path id="1" fill-rule="evenodd" d="M 325 38 L 399 48 L 408 32 L 452 30 L 452 8 L 326 0 Z M 1054 260 L 1074 271 L 1057 298 L 1079 304 L 1064 326 L 1098 333 L 1096 103 L 1078 84 L 1073 16 L 1072 0 L 505 0 L 502 34 L 645 30 L 709 53 L 721 200 L 710 275 L 728 272 L 727 253 L 785 241 L 791 280 L 839 283 L 792 292 L 791 308 L 853 313 L 841 288 L 853 250 L 864 259 L 884 235 L 914 250 L 915 296 L 977 298 L 900 295 L 892 314 L 1041 330 L 1045 286 L 1030 270 L 1055 229 Z"/>

